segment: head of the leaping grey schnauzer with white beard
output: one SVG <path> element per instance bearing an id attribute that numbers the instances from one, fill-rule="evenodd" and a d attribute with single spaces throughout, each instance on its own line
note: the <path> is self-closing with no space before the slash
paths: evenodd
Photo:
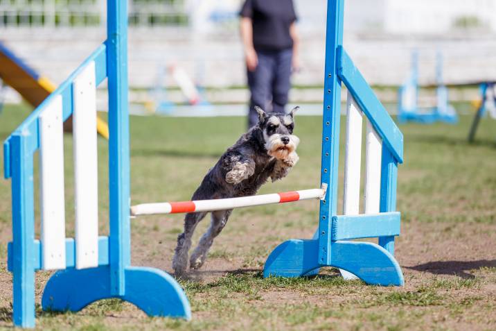
<path id="1" fill-rule="evenodd" d="M 265 112 L 255 107 L 258 112 L 258 127 L 263 133 L 265 149 L 267 154 L 276 159 L 287 158 L 298 146 L 300 139 L 293 135 L 294 113 L 299 107 L 295 107 L 289 114 Z"/>

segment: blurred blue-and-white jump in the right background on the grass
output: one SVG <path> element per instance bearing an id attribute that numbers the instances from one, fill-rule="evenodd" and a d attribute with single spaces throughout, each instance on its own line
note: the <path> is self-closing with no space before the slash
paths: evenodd
<path id="1" fill-rule="evenodd" d="M 398 90 L 398 121 L 416 121 L 432 124 L 443 121 L 458 122 L 457 112 L 448 102 L 448 87 L 443 83 L 443 56 L 436 54 L 436 105 L 432 108 L 418 107 L 418 53 L 411 55 L 411 73 Z"/>

